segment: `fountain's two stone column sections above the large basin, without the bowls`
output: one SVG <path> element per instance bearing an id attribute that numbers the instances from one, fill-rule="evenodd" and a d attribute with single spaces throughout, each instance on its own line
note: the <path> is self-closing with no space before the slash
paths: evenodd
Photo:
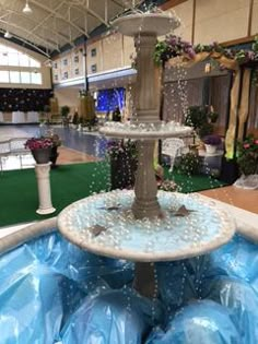
<path id="1" fill-rule="evenodd" d="M 137 117 L 138 123 L 159 123 L 159 92 L 156 67 L 153 54 L 156 45 L 156 34 L 137 34 L 134 36 L 137 48 Z M 160 215 L 157 202 L 156 180 L 153 166 L 154 140 L 138 141 L 138 170 L 136 176 L 132 212 L 136 218 L 154 217 Z"/>

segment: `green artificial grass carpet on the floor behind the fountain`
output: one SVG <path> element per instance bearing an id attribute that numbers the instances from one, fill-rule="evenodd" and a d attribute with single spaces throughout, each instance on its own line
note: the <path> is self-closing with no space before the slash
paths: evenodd
<path id="1" fill-rule="evenodd" d="M 168 174 L 181 192 L 213 189 L 224 183 L 207 176 Z M 3 171 L 0 175 L 0 227 L 56 216 L 63 207 L 93 192 L 108 191 L 109 165 L 106 162 L 60 165 L 50 171 L 51 200 L 56 212 L 38 215 L 37 181 L 34 169 Z"/>

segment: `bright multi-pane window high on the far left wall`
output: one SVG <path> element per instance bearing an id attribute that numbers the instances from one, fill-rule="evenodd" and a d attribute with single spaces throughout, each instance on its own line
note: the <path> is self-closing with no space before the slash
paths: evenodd
<path id="1" fill-rule="evenodd" d="M 42 84 L 42 63 L 28 55 L 0 44 L 0 83 Z"/>

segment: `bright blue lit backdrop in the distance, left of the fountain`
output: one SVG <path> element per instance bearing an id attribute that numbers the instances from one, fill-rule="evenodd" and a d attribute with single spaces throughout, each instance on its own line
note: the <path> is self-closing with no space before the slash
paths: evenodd
<path id="1" fill-rule="evenodd" d="M 98 112 L 112 112 L 116 107 L 121 110 L 125 106 L 125 88 L 101 90 L 97 94 L 96 110 Z"/>

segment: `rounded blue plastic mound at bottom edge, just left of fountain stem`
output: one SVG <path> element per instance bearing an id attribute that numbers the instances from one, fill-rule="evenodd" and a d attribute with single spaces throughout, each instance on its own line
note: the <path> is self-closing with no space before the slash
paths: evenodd
<path id="1" fill-rule="evenodd" d="M 61 335 L 63 344 L 141 344 L 161 322 L 162 307 L 132 289 L 108 290 L 87 297 Z"/>

